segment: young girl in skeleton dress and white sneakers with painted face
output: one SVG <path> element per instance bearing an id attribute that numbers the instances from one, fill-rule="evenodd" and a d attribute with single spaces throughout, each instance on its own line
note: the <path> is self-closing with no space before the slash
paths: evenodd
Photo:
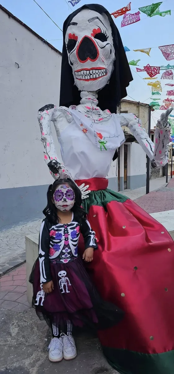
<path id="1" fill-rule="evenodd" d="M 71 360 L 77 350 L 73 325 L 89 323 L 98 329 L 120 321 L 123 312 L 100 299 L 78 256 L 78 239 L 83 235 L 83 260 L 93 260 L 97 249 L 95 233 L 81 208 L 81 192 L 67 178 L 56 180 L 48 188 L 45 219 L 39 233 L 39 258 L 33 267 L 33 306 L 39 318 L 52 329 L 49 360 Z M 61 332 L 63 331 L 63 332 Z"/>

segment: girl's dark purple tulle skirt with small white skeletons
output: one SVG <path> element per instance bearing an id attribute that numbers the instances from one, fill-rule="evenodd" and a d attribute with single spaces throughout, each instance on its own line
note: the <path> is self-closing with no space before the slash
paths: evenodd
<path id="1" fill-rule="evenodd" d="M 50 270 L 54 290 L 45 294 L 43 301 L 40 297 L 38 305 L 36 298 L 41 292 L 39 260 L 36 260 L 29 279 L 33 284 L 33 307 L 39 318 L 44 318 L 48 325 L 65 324 L 70 320 L 74 326 L 90 324 L 103 329 L 112 327 L 122 319 L 122 310 L 100 298 L 80 257 L 66 264 L 50 261 Z"/>

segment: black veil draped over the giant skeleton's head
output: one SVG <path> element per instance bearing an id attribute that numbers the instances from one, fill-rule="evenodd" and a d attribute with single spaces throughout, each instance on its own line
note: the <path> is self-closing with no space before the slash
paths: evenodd
<path id="1" fill-rule="evenodd" d="M 74 85 L 72 68 L 68 62 L 67 48 L 65 44 L 65 33 L 73 17 L 82 9 L 95 10 L 102 14 L 105 13 L 109 18 L 112 29 L 113 46 L 115 49 L 114 70 L 109 80 L 109 84 L 98 91 L 98 101 L 101 110 L 109 109 L 111 113 L 117 113 L 120 110 L 120 101 L 127 95 L 126 87 L 133 80 L 131 70 L 126 57 L 126 52 L 119 34 L 119 31 L 112 19 L 110 13 L 99 4 L 87 4 L 71 13 L 63 25 L 63 49 L 61 65 L 61 86 L 60 86 L 60 106 L 69 107 L 70 105 L 80 104 L 80 91 Z"/>

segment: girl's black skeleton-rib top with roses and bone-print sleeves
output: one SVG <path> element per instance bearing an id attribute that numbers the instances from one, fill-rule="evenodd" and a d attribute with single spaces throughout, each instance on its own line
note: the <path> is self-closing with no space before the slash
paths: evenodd
<path id="1" fill-rule="evenodd" d="M 80 232 L 84 237 L 85 248 L 97 248 L 95 232 L 91 229 L 90 223 L 87 220 L 83 219 L 80 225 L 74 220 L 74 216 L 72 216 L 70 223 L 58 223 L 54 226 L 46 218 L 43 220 L 39 233 L 41 283 L 51 281 L 49 261 L 53 264 L 66 264 L 78 257 Z M 64 276 L 62 275 L 63 278 Z M 62 281 L 63 278 L 61 278 Z M 62 281 L 60 286 L 62 285 Z"/>

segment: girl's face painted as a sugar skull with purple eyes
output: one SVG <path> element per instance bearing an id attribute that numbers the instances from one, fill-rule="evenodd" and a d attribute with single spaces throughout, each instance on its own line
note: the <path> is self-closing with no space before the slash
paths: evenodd
<path id="1" fill-rule="evenodd" d="M 74 191 L 68 184 L 60 184 L 54 192 L 53 199 L 57 209 L 68 212 L 74 206 Z"/>

